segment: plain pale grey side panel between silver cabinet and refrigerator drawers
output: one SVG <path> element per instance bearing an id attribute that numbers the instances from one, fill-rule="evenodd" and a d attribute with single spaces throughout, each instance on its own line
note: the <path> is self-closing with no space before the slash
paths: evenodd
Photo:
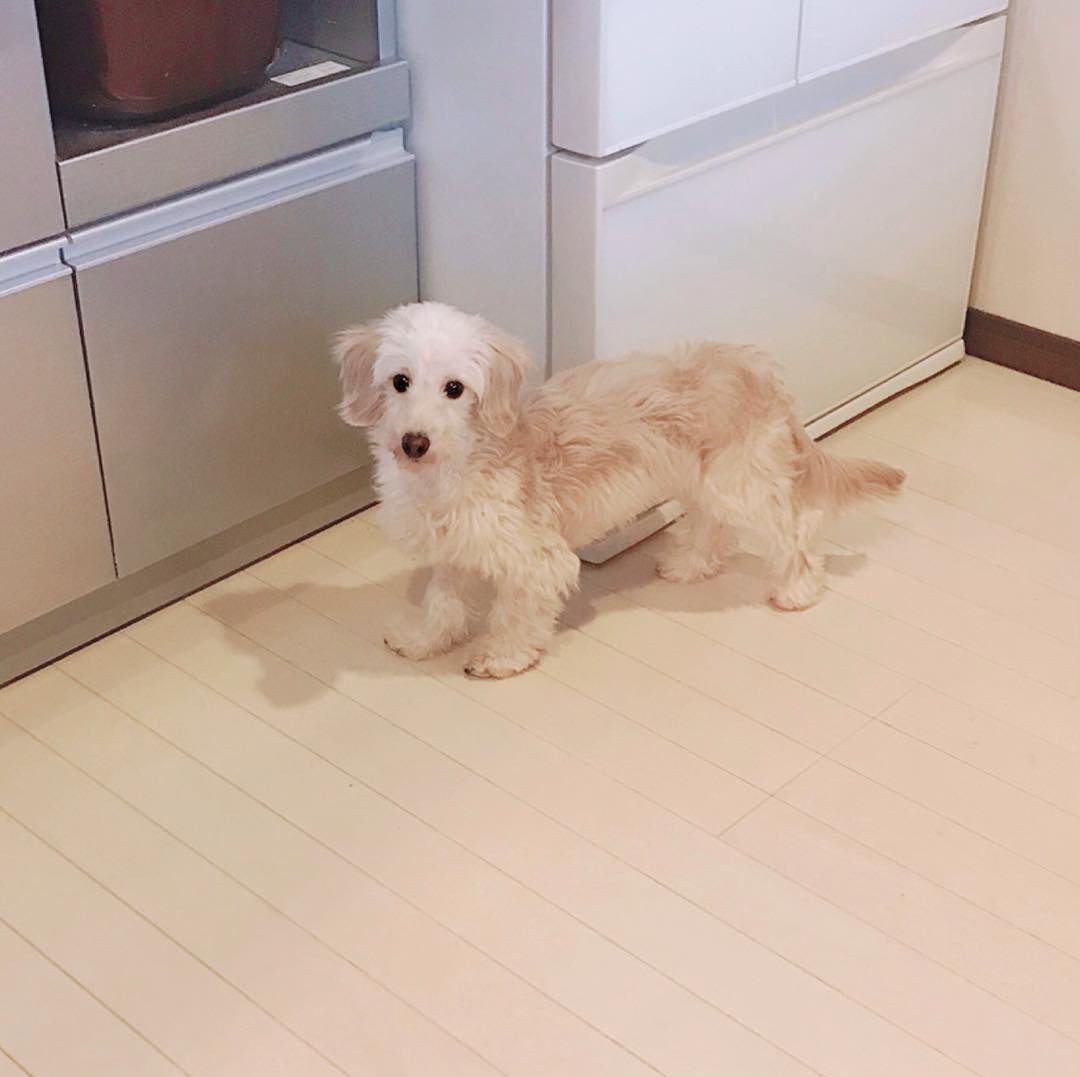
<path id="1" fill-rule="evenodd" d="M 397 0 L 411 70 L 420 296 L 548 358 L 546 0 Z"/>

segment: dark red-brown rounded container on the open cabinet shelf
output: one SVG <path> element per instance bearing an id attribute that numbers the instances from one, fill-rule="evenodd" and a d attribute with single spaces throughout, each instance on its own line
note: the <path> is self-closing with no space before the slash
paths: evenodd
<path id="1" fill-rule="evenodd" d="M 53 110 L 152 120 L 259 85 L 279 0 L 38 0 Z"/>

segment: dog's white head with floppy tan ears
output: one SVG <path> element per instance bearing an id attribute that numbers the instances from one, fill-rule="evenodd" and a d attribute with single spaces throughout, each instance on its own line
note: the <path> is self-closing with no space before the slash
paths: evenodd
<path id="1" fill-rule="evenodd" d="M 529 359 L 482 318 L 441 302 L 397 307 L 335 347 L 342 419 L 409 469 L 462 461 L 517 422 Z"/>

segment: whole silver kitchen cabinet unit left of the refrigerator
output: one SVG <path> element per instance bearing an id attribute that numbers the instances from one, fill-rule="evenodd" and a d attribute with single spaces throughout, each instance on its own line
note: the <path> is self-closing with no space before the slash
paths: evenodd
<path id="1" fill-rule="evenodd" d="M 374 497 L 330 342 L 417 297 L 409 72 L 393 0 L 283 15 L 261 85 L 95 125 L 0 4 L 0 683 Z"/>

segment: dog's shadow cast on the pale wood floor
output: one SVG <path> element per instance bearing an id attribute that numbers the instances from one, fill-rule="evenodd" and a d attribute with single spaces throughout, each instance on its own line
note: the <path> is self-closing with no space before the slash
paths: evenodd
<path id="1" fill-rule="evenodd" d="M 566 603 L 554 647 L 567 646 L 575 630 L 589 632 L 598 619 L 627 608 L 673 619 L 680 614 L 768 609 L 768 578 L 760 558 L 739 554 L 727 571 L 711 580 L 672 583 L 657 577 L 656 552 L 647 544 L 600 568 L 582 566 L 582 585 Z M 831 576 L 850 576 L 864 561 L 861 554 L 833 554 L 826 567 Z M 388 678 L 415 678 L 422 672 L 463 676 L 469 644 L 420 663 L 394 655 L 383 644 L 392 619 L 419 606 L 430 577 L 430 569 L 417 568 L 379 582 L 356 576 L 355 582 L 341 584 L 241 584 L 200 605 L 221 622 L 228 646 L 258 663 L 259 691 L 274 708 L 302 708 L 335 691 L 374 705 Z M 472 596 L 481 611 L 477 629 L 489 597 L 483 590 Z"/>

